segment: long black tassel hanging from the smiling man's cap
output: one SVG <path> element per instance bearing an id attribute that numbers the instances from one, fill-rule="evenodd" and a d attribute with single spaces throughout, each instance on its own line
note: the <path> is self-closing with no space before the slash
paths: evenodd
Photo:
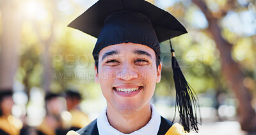
<path id="1" fill-rule="evenodd" d="M 198 132 L 198 126 L 197 126 L 198 120 L 196 116 L 196 111 L 197 109 L 199 109 L 199 104 L 196 101 L 197 97 L 196 97 L 195 91 L 193 90 L 193 88 L 191 88 L 191 86 L 186 81 L 184 75 L 182 74 L 179 64 L 175 58 L 175 52 L 172 49 L 171 40 L 169 41 L 170 41 L 171 52 L 172 52 L 173 79 L 174 79 L 175 89 L 176 89 L 175 112 L 177 108 L 179 111 L 180 122 L 184 127 L 184 131 L 189 132 L 190 129 L 193 129 L 193 131 Z M 175 119 L 175 116 L 173 118 L 173 121 L 174 119 Z M 201 121 L 201 117 L 200 117 L 200 121 Z"/>

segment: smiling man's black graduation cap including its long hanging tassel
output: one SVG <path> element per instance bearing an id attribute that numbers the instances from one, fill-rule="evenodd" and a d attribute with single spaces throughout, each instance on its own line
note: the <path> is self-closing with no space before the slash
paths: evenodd
<path id="1" fill-rule="evenodd" d="M 144 0 L 97 1 L 68 26 L 98 38 L 93 49 L 96 66 L 99 51 L 108 45 L 124 42 L 143 44 L 153 49 L 156 57 L 160 58 L 160 42 L 188 33 L 173 15 Z M 193 109 L 198 106 L 194 91 L 184 78 L 173 49 L 171 52 L 180 122 L 185 131 L 189 132 L 190 127 L 198 131 L 196 111 Z"/>

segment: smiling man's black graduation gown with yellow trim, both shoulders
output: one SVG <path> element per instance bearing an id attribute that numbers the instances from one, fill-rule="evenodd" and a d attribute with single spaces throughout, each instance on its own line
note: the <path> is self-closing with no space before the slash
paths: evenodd
<path id="1" fill-rule="evenodd" d="M 97 127 L 97 119 L 93 120 L 89 125 L 79 129 L 78 131 L 69 131 L 67 135 L 99 135 Z M 161 123 L 157 135 L 189 135 L 190 133 L 185 133 L 182 127 L 175 123 L 172 125 L 170 120 L 167 120 L 161 116 Z"/>

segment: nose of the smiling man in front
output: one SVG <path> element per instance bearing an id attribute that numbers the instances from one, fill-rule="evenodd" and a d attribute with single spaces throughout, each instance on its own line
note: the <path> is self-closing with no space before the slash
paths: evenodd
<path id="1" fill-rule="evenodd" d="M 124 81 L 131 81 L 132 79 L 138 78 L 137 72 L 134 71 L 134 69 L 128 64 L 121 67 L 120 72 L 116 74 L 118 79 L 122 79 Z"/>

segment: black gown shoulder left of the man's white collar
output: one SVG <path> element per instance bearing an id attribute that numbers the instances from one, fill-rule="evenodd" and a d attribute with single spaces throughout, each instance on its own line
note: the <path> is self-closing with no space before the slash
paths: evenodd
<path id="1" fill-rule="evenodd" d="M 93 120 L 93 122 L 89 123 L 89 125 L 86 125 L 86 127 L 83 127 L 76 132 L 81 135 L 99 135 L 97 118 Z"/>

